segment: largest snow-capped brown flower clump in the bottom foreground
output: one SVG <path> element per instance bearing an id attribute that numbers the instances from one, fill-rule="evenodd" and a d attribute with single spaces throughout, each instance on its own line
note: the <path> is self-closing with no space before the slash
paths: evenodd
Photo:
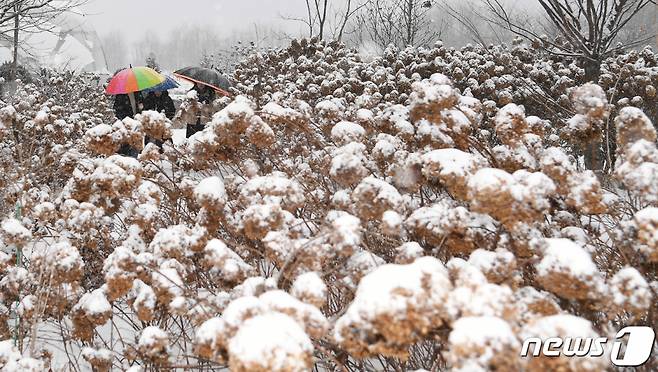
<path id="1" fill-rule="evenodd" d="M 442 324 L 450 287 L 447 270 L 434 258 L 381 266 L 361 280 L 334 337 L 356 356 L 404 357 L 411 344 Z"/>

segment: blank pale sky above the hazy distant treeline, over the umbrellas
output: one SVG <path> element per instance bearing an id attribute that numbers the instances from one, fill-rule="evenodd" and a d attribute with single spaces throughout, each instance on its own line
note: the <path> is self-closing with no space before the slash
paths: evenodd
<path id="1" fill-rule="evenodd" d="M 90 0 L 84 7 L 99 34 L 122 31 L 135 40 L 146 30 L 165 33 L 182 24 L 210 24 L 219 30 L 253 28 L 253 24 L 283 24 L 281 15 L 305 11 L 304 0 Z"/>

